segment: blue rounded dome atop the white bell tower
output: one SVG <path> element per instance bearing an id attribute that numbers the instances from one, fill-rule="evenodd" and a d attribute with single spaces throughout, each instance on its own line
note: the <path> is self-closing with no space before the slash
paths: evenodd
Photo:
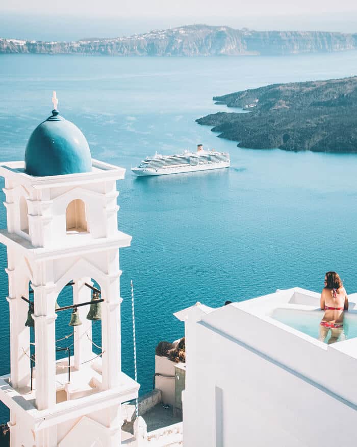
<path id="1" fill-rule="evenodd" d="M 32 132 L 25 151 L 25 173 L 47 175 L 77 174 L 92 170 L 86 137 L 70 121 L 52 111 Z"/>

